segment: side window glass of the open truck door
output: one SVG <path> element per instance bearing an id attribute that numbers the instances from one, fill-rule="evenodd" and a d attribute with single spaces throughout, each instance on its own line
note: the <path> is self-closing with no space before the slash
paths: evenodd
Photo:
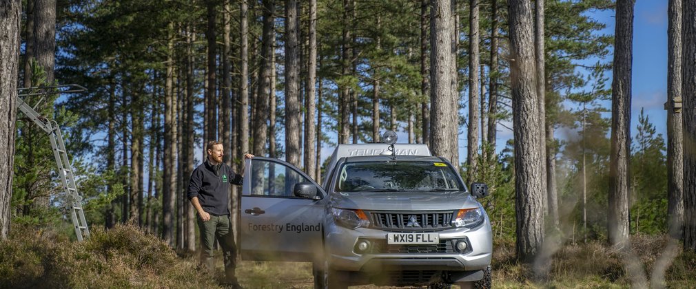
<path id="1" fill-rule="evenodd" d="M 309 181 L 292 167 L 269 160 L 251 160 L 251 195 L 294 197 L 296 183 Z"/>

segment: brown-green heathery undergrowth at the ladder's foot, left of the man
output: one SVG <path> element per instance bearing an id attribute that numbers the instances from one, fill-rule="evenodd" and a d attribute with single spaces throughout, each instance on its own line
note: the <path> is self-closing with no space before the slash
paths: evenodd
<path id="1" fill-rule="evenodd" d="M 0 242 L 1 288 L 216 288 L 216 276 L 132 225 L 93 228 L 85 242 L 13 226 Z"/>

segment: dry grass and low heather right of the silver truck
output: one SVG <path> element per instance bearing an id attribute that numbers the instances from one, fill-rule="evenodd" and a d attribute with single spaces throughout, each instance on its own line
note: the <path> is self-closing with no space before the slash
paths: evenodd
<path id="1" fill-rule="evenodd" d="M 640 260 L 646 279 L 665 254 L 667 236 L 636 235 L 631 237 L 631 252 Z M 626 251 L 604 242 L 567 244 L 553 254 L 546 279 L 534 281 L 529 265 L 518 263 L 514 243 L 496 244 L 493 252 L 493 284 L 496 288 L 630 288 L 634 287 L 626 272 Z M 696 288 L 696 254 L 679 251 L 668 267 L 668 288 Z M 654 284 L 647 284 L 653 286 Z M 640 286 L 639 286 L 640 287 Z M 660 288 L 661 286 L 656 286 Z"/>

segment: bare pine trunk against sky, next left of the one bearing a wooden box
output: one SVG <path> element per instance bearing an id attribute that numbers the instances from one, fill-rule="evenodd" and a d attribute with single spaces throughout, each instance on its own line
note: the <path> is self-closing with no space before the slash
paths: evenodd
<path id="1" fill-rule="evenodd" d="M 612 126 L 609 166 L 608 237 L 610 244 L 628 240 L 631 217 L 631 61 L 633 58 L 633 6 L 635 0 L 616 3 L 614 72 L 612 80 Z"/>

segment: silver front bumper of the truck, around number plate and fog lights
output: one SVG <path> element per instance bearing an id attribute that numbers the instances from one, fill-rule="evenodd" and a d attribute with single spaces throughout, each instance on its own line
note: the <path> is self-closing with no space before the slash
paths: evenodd
<path id="1" fill-rule="evenodd" d="M 334 270 L 369 272 L 370 274 L 393 270 L 472 271 L 482 270 L 491 264 L 493 235 L 488 220 L 474 229 L 461 228 L 436 232 L 439 233 L 443 244 L 451 240 L 467 240 L 469 247 L 464 253 L 446 248 L 373 250 L 365 254 L 356 253 L 354 247 L 358 240 L 365 239 L 373 244 L 380 242 L 386 244 L 387 233 L 390 232 L 365 228 L 347 229 L 335 224 L 326 226 L 325 244 L 329 264 Z"/>

